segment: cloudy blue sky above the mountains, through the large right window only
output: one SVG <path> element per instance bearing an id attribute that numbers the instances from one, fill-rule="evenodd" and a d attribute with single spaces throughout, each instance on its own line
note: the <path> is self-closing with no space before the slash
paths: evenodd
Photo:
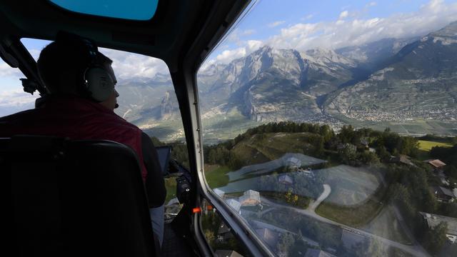
<path id="1" fill-rule="evenodd" d="M 455 21 L 456 11 L 451 0 L 260 0 L 208 61 L 229 62 L 263 44 L 337 49 L 385 37 L 420 36 Z"/>

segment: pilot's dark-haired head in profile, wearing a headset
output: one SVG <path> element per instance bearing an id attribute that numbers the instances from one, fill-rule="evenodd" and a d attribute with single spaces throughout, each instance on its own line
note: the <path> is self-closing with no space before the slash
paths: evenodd
<path id="1" fill-rule="evenodd" d="M 79 96 L 108 109 L 116 108 L 119 96 L 112 61 L 101 54 L 93 41 L 74 34 L 59 33 L 37 61 L 41 79 L 52 96 Z"/>

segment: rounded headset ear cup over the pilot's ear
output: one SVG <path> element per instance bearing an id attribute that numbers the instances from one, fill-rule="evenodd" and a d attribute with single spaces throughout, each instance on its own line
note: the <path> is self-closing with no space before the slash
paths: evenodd
<path id="1" fill-rule="evenodd" d="M 99 67 L 86 71 L 86 89 L 95 101 L 105 101 L 113 94 L 114 81 L 107 71 Z"/>

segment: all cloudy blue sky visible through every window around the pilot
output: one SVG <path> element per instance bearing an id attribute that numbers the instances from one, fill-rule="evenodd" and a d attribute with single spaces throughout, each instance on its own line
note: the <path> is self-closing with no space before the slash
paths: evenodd
<path id="1" fill-rule="evenodd" d="M 266 44 L 306 51 L 316 47 L 337 49 L 386 37 L 426 35 L 457 21 L 456 3 L 457 0 L 260 0 L 203 67 L 229 63 Z M 22 41 L 35 58 L 49 43 Z M 110 49 L 101 51 L 114 59 L 114 71 L 120 80 L 169 73 L 159 59 Z M 36 98 L 21 92 L 20 77 L 17 69 L 0 61 L 0 115 L 4 114 L 2 109 L 29 106 Z"/>

